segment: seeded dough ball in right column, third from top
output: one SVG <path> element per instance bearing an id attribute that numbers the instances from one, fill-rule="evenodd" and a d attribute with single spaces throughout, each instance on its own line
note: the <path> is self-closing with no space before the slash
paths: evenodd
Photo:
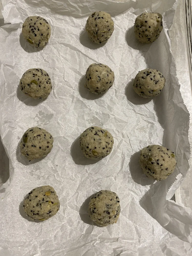
<path id="1" fill-rule="evenodd" d="M 166 147 L 150 145 L 141 150 L 139 164 L 147 177 L 166 179 L 175 170 L 175 154 Z"/>

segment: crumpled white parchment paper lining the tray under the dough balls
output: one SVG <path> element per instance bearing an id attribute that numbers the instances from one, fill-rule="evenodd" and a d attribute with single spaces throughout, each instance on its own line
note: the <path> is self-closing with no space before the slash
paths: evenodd
<path id="1" fill-rule="evenodd" d="M 10 178 L 1 186 L 1 255 L 172 255 L 167 244 L 178 238 L 191 242 L 191 210 L 169 200 L 189 168 L 189 114 L 183 103 L 170 53 L 170 28 L 176 4 L 172 1 L 29 1 L 3 0 L 6 23 L 0 38 L 0 134 L 10 159 Z M 115 30 L 103 46 L 91 43 L 84 30 L 94 10 L 110 12 Z M 164 31 L 150 45 L 139 44 L 133 25 L 144 11 L 163 13 Z M 22 37 L 27 16 L 45 17 L 51 37 L 44 49 Z M 92 95 L 84 87 L 87 67 L 104 63 L 115 73 L 113 87 Z M 46 100 L 32 100 L 18 90 L 22 74 L 43 68 L 53 90 Z M 163 92 L 141 99 L 132 90 L 138 71 L 149 67 L 166 77 Z M 95 163 L 82 156 L 79 135 L 101 126 L 114 137 L 112 153 Z M 54 137 L 51 153 L 27 162 L 18 145 L 32 126 Z M 176 153 L 177 168 L 167 180 L 153 182 L 138 165 L 141 148 L 163 144 Z M 60 210 L 42 223 L 29 221 L 22 201 L 33 188 L 53 186 Z M 116 225 L 94 226 L 87 214 L 89 196 L 101 189 L 120 197 Z M 173 236 L 174 234 L 174 236 Z M 178 241 L 178 240 L 177 240 Z M 182 241 L 185 255 L 188 243 Z M 171 249 L 170 249 L 171 248 Z"/>

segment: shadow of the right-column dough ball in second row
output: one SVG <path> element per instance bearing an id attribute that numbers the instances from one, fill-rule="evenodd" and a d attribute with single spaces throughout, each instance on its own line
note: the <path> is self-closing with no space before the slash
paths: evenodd
<path id="1" fill-rule="evenodd" d="M 127 100 L 132 102 L 135 105 L 142 105 L 150 102 L 152 98 L 142 98 L 136 92 L 133 90 L 133 83 L 135 79 L 132 79 L 127 86 L 125 87 L 125 95 L 127 97 Z"/>

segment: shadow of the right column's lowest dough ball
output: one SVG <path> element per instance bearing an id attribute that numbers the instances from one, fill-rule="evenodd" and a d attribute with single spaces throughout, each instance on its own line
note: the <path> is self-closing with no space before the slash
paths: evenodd
<path id="1" fill-rule="evenodd" d="M 146 175 L 143 173 L 139 165 L 139 155 L 140 151 L 133 154 L 130 158 L 129 170 L 131 173 L 131 177 L 134 180 L 134 182 L 142 186 L 152 185 L 154 183 L 154 180 L 146 177 Z"/>

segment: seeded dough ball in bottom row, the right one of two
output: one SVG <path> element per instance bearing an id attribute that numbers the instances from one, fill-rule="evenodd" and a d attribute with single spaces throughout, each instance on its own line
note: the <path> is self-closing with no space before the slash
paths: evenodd
<path id="1" fill-rule="evenodd" d="M 89 201 L 89 217 L 101 227 L 116 223 L 120 211 L 118 195 L 109 190 L 95 193 Z"/>

